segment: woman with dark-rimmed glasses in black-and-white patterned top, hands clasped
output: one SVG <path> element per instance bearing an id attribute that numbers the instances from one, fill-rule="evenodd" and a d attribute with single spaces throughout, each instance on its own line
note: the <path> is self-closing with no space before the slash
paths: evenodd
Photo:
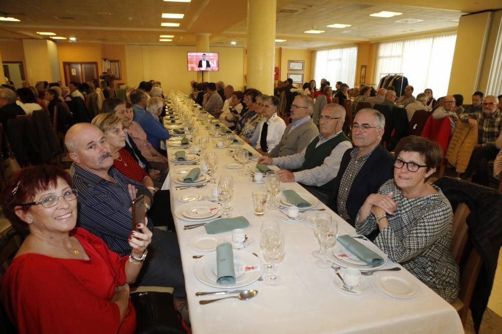
<path id="1" fill-rule="evenodd" d="M 441 162 L 442 149 L 409 136 L 395 152 L 394 179 L 368 196 L 356 230 L 367 235 L 379 228 L 375 244 L 451 302 L 459 290 L 459 269 L 450 250 L 453 213 L 441 189 L 425 182 Z"/>

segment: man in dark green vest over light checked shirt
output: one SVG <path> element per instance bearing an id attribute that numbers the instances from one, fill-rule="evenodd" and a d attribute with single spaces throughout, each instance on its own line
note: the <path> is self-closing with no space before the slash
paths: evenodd
<path id="1" fill-rule="evenodd" d="M 342 132 L 345 108 L 326 105 L 319 116 L 319 132 L 302 152 L 279 158 L 262 156 L 258 163 L 282 168 L 277 174 L 282 182 L 298 182 L 326 203 L 333 189 L 340 162 L 352 143 Z M 293 170 L 294 172 L 292 172 Z"/>

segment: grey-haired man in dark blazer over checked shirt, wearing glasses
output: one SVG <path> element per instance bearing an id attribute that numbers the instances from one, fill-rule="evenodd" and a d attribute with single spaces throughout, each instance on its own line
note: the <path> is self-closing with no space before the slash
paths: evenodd
<path id="1" fill-rule="evenodd" d="M 374 109 L 361 109 L 352 124 L 354 148 L 345 151 L 327 205 L 352 226 L 366 197 L 378 192 L 393 177 L 394 159 L 380 145 L 385 117 Z"/>

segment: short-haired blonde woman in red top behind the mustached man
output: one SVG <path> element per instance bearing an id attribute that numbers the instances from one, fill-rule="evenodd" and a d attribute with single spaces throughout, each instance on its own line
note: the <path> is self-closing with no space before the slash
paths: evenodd
<path id="1" fill-rule="evenodd" d="M 124 149 L 126 146 L 126 133 L 123 130 L 120 118 L 113 114 L 99 114 L 94 117 L 91 123 L 103 131 L 113 154 L 113 167 L 131 180 L 143 183 L 154 194 L 154 181 L 134 160 L 131 154 Z"/>

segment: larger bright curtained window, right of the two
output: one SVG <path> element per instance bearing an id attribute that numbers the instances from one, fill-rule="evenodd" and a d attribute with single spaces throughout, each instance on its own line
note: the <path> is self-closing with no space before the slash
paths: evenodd
<path id="1" fill-rule="evenodd" d="M 435 98 L 445 96 L 456 38 L 456 34 L 448 34 L 380 43 L 375 82 L 386 73 L 403 73 L 414 88 L 414 96 L 426 88 L 432 89 Z"/>

